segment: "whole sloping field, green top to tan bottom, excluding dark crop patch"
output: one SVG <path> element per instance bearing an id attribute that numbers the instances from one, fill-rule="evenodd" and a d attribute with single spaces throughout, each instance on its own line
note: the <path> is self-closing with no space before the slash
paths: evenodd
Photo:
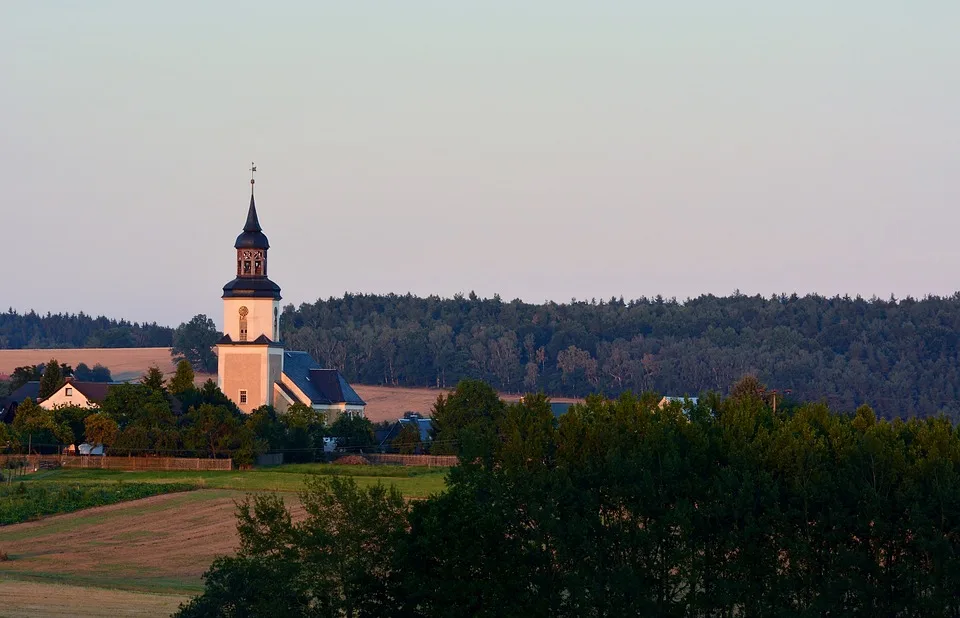
<path id="1" fill-rule="evenodd" d="M 409 498 L 442 491 L 446 470 L 290 464 L 246 472 L 50 470 L 27 483 L 190 483 L 200 489 L 0 527 L 0 616 L 165 616 L 202 590 L 201 575 L 236 548 L 236 501 L 279 491 L 294 517 L 310 475 L 394 484 Z M 79 592 L 79 594 L 78 594 Z M 104 599 L 91 603 L 93 599 Z M 107 611 L 109 610 L 109 611 Z"/>

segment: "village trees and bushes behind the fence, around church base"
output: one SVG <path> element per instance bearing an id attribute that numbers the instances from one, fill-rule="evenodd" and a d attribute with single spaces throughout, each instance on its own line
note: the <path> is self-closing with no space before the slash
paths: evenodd
<path id="1" fill-rule="evenodd" d="M 40 397 L 57 391 L 62 376 L 56 360 L 47 363 Z M 194 386 L 190 363 L 181 361 L 169 382 L 153 367 L 139 383 L 112 385 L 97 408 L 45 409 L 26 399 L 16 407 L 12 424 L 0 423 L 0 453 L 60 452 L 70 445 L 79 452 L 88 443 L 103 446 L 109 455 L 230 457 L 252 464 L 267 451 L 283 452 L 288 462 L 322 460 L 324 439 L 331 436 L 341 449 L 374 445 L 374 426 L 367 419 L 327 421 L 302 404 L 282 415 L 269 406 L 245 415 L 213 380 Z"/>

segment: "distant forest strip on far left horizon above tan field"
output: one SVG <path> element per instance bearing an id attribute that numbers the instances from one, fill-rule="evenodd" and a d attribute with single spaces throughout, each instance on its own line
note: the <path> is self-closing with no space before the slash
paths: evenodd
<path id="1" fill-rule="evenodd" d="M 173 329 L 84 313 L 0 313 L 0 349 L 169 347 Z"/>

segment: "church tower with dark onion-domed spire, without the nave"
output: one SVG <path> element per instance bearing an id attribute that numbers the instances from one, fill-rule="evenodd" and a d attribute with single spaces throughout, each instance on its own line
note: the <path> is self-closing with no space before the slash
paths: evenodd
<path id="1" fill-rule="evenodd" d="M 283 373 L 280 286 L 267 277 L 267 241 L 253 199 L 237 236 L 237 276 L 223 286 L 223 338 L 217 342 L 217 385 L 243 412 L 273 405 Z"/>

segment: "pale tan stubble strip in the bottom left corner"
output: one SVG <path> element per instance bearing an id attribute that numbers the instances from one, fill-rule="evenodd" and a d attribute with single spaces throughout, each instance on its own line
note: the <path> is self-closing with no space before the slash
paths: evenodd
<path id="1" fill-rule="evenodd" d="M 0 616 L 169 616 L 188 598 L 5 580 L 0 581 Z"/>

